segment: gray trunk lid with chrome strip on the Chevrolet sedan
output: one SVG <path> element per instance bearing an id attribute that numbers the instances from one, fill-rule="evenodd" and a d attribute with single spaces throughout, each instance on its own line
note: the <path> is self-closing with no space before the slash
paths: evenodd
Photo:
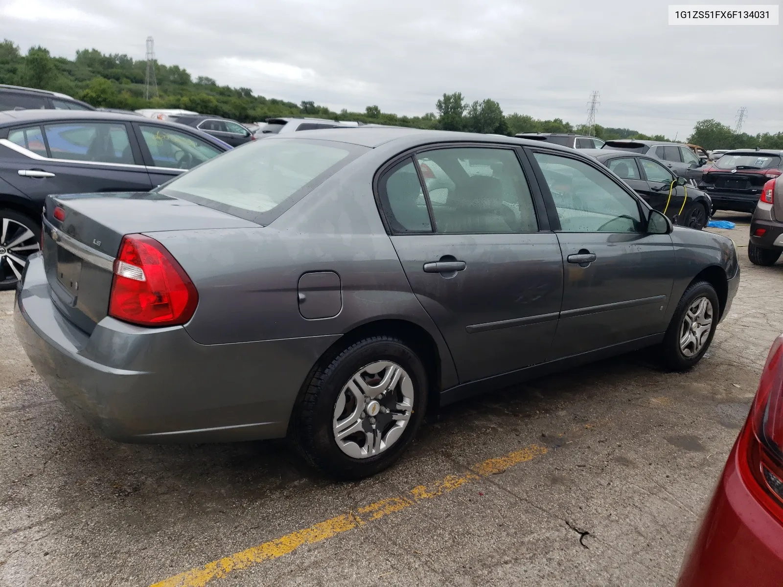
<path id="1" fill-rule="evenodd" d="M 62 220 L 56 218 L 56 208 L 61 209 L 57 215 Z M 108 312 L 114 257 L 123 236 L 258 227 L 244 218 L 152 192 L 47 196 L 44 214 L 43 257 L 52 301 L 87 333 Z"/>

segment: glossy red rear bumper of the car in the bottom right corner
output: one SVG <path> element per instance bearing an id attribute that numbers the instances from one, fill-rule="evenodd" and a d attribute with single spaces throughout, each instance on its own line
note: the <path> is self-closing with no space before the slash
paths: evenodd
<path id="1" fill-rule="evenodd" d="M 751 495 L 737 459 L 734 445 L 677 587 L 781 585 L 783 526 Z"/>

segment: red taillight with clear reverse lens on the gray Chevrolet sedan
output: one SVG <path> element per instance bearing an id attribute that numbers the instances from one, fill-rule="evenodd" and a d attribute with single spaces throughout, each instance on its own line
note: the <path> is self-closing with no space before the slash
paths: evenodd
<path id="1" fill-rule="evenodd" d="M 149 236 L 124 236 L 114 261 L 109 315 L 141 326 L 184 324 L 198 292 L 166 248 Z"/>

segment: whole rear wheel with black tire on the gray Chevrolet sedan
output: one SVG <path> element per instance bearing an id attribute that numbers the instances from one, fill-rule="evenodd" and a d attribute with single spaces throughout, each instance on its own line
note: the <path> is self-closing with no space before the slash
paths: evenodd
<path id="1" fill-rule="evenodd" d="M 306 385 L 292 440 L 310 464 L 340 479 L 394 463 L 427 411 L 427 369 L 395 337 L 359 340 L 317 367 Z"/>

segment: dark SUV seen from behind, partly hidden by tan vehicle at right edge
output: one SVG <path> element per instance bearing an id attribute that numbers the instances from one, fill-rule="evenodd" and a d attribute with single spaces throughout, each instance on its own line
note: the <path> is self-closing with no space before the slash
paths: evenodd
<path id="1" fill-rule="evenodd" d="M 783 151 L 735 149 L 705 169 L 699 189 L 713 198 L 716 210 L 752 212 L 761 190 L 783 173 Z"/>

